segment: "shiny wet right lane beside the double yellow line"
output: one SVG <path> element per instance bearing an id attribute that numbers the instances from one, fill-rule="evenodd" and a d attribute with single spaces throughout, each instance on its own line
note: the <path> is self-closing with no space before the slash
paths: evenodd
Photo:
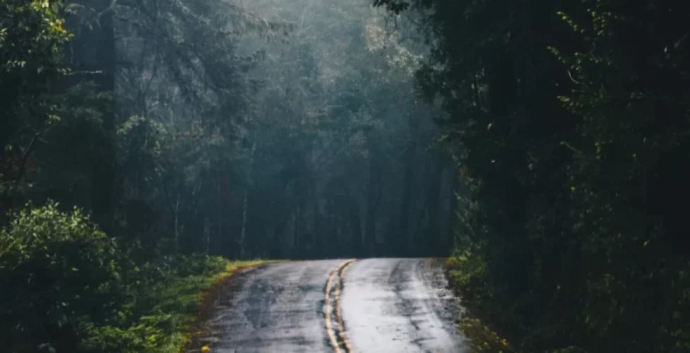
<path id="1" fill-rule="evenodd" d="M 442 270 L 419 258 L 371 258 L 349 268 L 341 297 L 354 352 L 465 352 L 459 307 Z"/>

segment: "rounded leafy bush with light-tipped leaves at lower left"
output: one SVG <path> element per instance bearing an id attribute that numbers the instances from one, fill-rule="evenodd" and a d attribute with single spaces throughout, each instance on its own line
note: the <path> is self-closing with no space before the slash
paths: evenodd
<path id="1" fill-rule="evenodd" d="M 114 315 L 121 283 L 117 248 L 75 208 L 29 206 L 0 230 L 0 351 L 36 342 L 75 349 L 80 328 Z"/>

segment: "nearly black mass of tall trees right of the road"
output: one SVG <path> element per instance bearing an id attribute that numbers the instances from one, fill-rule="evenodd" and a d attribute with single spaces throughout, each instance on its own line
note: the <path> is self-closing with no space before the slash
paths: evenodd
<path id="1" fill-rule="evenodd" d="M 375 5 L 425 13 L 461 286 L 488 322 L 526 352 L 690 349 L 687 4 Z"/>

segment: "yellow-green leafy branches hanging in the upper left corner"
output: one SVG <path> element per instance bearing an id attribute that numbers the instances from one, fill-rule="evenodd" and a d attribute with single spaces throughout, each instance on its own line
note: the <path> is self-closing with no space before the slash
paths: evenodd
<path id="1" fill-rule="evenodd" d="M 0 1 L 0 201 L 11 203 L 37 140 L 59 116 L 51 83 L 66 73 L 71 38 L 62 1 Z"/>

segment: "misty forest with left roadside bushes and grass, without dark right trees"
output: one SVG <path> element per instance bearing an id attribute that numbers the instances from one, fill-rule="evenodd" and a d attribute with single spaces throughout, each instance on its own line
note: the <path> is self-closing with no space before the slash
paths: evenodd
<path id="1" fill-rule="evenodd" d="M 371 5 L 0 0 L 0 351 L 179 345 L 208 256 L 447 256 L 430 48 Z"/>

